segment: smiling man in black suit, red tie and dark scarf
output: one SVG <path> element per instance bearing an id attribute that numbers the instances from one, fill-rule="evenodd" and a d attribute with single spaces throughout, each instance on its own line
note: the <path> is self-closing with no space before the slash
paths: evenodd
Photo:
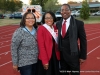
<path id="1" fill-rule="evenodd" d="M 61 75 L 80 75 L 80 64 L 87 57 L 87 40 L 84 23 L 71 16 L 68 4 L 61 6 L 62 19 L 58 28 L 58 47 L 61 53 Z M 79 40 L 79 43 L 78 43 Z"/>

